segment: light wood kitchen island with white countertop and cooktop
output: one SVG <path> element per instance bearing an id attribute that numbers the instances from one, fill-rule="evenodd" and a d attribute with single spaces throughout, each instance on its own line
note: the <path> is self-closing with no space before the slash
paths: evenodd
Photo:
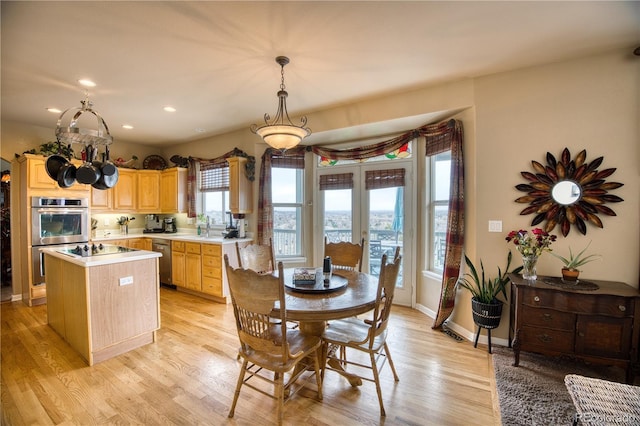
<path id="1" fill-rule="evenodd" d="M 160 328 L 159 253 L 42 251 L 47 321 L 89 365 L 155 341 Z"/>

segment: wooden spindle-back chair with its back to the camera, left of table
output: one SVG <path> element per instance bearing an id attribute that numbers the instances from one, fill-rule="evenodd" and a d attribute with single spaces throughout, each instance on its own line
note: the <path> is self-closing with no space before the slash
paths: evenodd
<path id="1" fill-rule="evenodd" d="M 295 390 L 302 388 L 294 389 L 292 385 L 304 372 L 315 372 L 306 380 L 315 376 L 318 399 L 322 399 L 322 341 L 320 336 L 287 328 L 282 262 L 278 263 L 278 276 L 235 269 L 229 264 L 226 254 L 224 263 L 240 338 L 238 353 L 242 358 L 229 417 L 234 415 L 240 389 L 244 385 L 277 400 L 278 424 L 282 424 L 284 402 L 295 394 Z M 278 324 L 271 321 L 274 316 L 278 318 Z M 289 373 L 291 370 L 294 371 Z M 260 386 L 260 382 L 268 383 L 268 388 L 264 383 Z"/>

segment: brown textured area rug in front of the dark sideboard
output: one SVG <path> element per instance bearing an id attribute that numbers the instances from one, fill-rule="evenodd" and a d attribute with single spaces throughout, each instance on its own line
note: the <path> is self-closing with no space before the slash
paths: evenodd
<path id="1" fill-rule="evenodd" d="M 520 353 L 520 366 L 513 366 L 513 350 L 493 348 L 493 367 L 504 426 L 570 425 L 575 415 L 564 376 L 587 377 L 624 382 L 624 370 L 586 364 L 569 358 Z"/>

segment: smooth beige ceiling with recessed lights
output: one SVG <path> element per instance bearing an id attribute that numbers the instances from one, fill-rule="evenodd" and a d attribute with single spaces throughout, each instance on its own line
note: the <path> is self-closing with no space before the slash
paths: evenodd
<path id="1" fill-rule="evenodd" d="M 89 89 L 94 109 L 114 139 L 158 146 L 248 129 L 265 113 L 275 115 L 278 55 L 291 58 L 285 84 L 293 118 L 616 48 L 631 55 L 640 44 L 637 1 L 0 7 L 3 120 L 51 127 L 53 134 L 59 114 L 46 108 L 79 107 L 85 89 L 77 80 L 89 78 L 97 83 Z M 177 111 L 163 111 L 166 105 Z"/>

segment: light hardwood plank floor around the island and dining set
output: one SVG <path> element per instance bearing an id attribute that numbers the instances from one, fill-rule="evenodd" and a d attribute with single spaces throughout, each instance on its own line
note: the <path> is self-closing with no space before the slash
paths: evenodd
<path id="1" fill-rule="evenodd" d="M 2 303 L 2 424 L 273 425 L 275 401 L 244 387 L 227 414 L 239 371 L 230 305 L 161 289 L 155 343 L 89 367 L 48 325 L 46 305 Z M 394 307 L 385 366 L 386 418 L 373 383 L 353 388 L 327 371 L 285 405 L 286 425 L 499 425 L 486 347 L 431 329 L 424 314 Z M 313 380 L 312 380 L 313 382 Z"/>

